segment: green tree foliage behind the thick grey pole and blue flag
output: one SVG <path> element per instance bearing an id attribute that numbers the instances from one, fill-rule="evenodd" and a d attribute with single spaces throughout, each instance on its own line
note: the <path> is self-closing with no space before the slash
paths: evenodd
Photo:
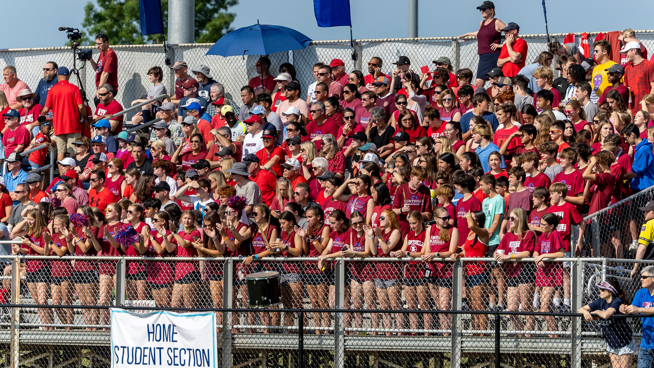
<path id="1" fill-rule="evenodd" d="M 111 44 L 162 43 L 168 33 L 168 0 L 162 0 L 165 35 L 141 36 L 139 0 L 97 0 L 84 8 L 84 38 L 82 44 L 93 45 L 97 33 L 109 36 Z M 228 12 L 238 0 L 195 0 L 196 42 L 216 42 L 226 35 L 236 14 Z"/>

